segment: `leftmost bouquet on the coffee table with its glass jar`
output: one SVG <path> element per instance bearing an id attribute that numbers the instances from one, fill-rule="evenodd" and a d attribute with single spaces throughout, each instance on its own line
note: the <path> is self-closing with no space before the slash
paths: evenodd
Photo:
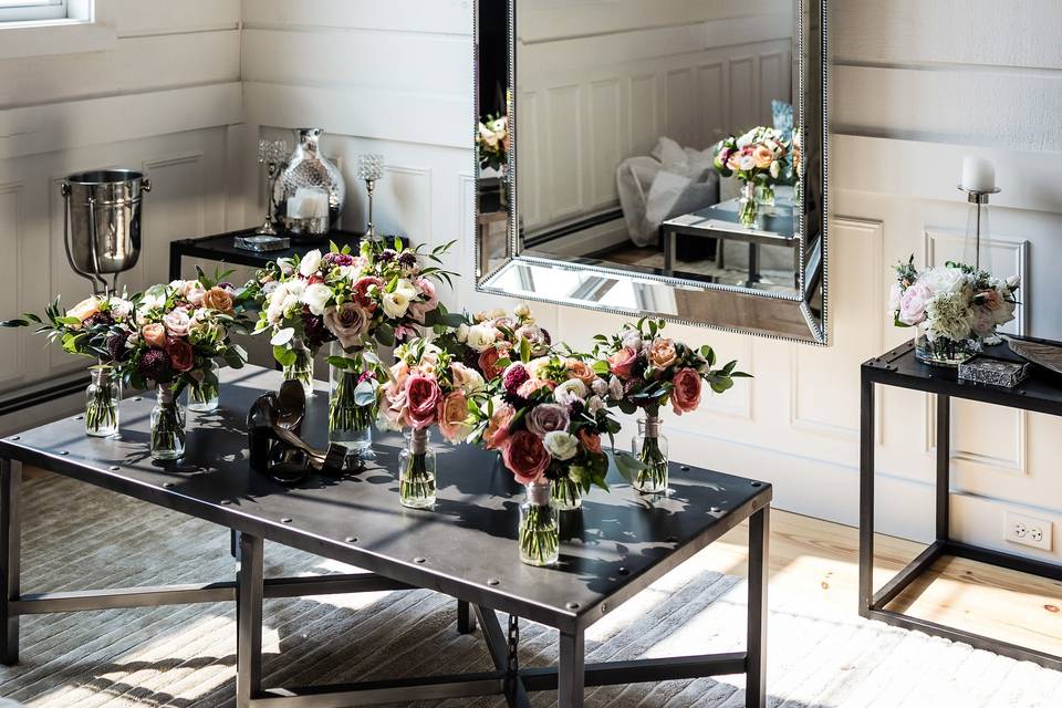
<path id="1" fill-rule="evenodd" d="M 125 341 L 132 327 L 133 302 L 126 296 L 91 295 L 70 310 L 60 299 L 48 305 L 44 316 L 25 313 L 21 320 L 0 323 L 8 327 L 37 326 L 64 352 L 96 361 L 90 367 L 85 391 L 85 435 L 107 437 L 118 431 L 122 376 L 118 366 L 126 357 Z"/>

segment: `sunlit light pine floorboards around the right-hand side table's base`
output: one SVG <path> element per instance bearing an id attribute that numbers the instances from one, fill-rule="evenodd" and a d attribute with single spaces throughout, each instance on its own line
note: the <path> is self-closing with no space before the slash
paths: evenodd
<path id="1" fill-rule="evenodd" d="M 712 569 L 746 574 L 748 529 L 739 527 L 706 551 Z M 925 546 L 877 535 L 875 589 Z M 857 612 L 858 531 L 774 511 L 770 593 Z M 889 604 L 925 620 L 1062 656 L 1062 583 L 975 561 L 941 559 L 931 574 Z"/>

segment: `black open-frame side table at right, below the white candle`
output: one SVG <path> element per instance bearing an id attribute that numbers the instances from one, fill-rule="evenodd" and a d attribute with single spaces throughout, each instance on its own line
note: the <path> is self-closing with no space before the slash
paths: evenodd
<path id="1" fill-rule="evenodd" d="M 943 555 L 965 558 L 981 563 L 1062 581 L 1062 565 L 1044 563 L 1009 553 L 955 541 L 950 538 L 951 480 L 951 398 L 979 400 L 997 406 L 1062 416 L 1062 384 L 1048 374 L 1035 372 L 1018 388 L 999 388 L 958 379 L 952 369 L 927 366 L 915 358 L 914 344 L 907 343 L 862 366 L 862 420 L 860 425 L 860 614 L 870 620 L 917 629 L 938 637 L 964 642 L 1023 662 L 1033 662 L 1062 670 L 1062 656 L 1018 646 L 971 632 L 956 629 L 928 620 L 888 610 L 912 582 L 929 570 Z M 999 358 L 1017 360 L 1007 345 L 989 347 L 987 353 Z M 1020 360 L 1019 360 L 1020 361 Z M 937 480 L 936 540 L 879 591 L 874 591 L 874 386 L 896 386 L 924 391 L 937 396 Z"/>

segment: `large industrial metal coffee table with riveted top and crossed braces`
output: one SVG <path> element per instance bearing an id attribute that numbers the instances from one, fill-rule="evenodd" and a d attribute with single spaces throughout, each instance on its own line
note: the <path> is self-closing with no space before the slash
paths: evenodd
<path id="1" fill-rule="evenodd" d="M 403 700 L 504 695 L 527 706 L 528 693 L 556 689 L 559 706 L 583 705 L 584 686 L 746 674 L 748 706 L 766 706 L 766 587 L 771 487 L 673 466 L 671 491 L 647 499 L 617 483 L 594 491 L 562 525 L 561 563 L 520 563 L 516 530 L 522 491 L 497 456 L 440 446 L 439 501 L 434 511 L 404 510 L 389 471 L 402 442 L 385 437 L 378 460 L 342 479 L 311 477 L 282 487 L 250 470 L 243 412 L 275 372 L 247 367 L 221 375 L 222 408 L 189 423 L 185 460 L 153 464 L 147 454 L 152 404 L 122 404 L 122 435 L 86 438 L 79 417 L 0 440 L 0 658 L 18 660 L 19 617 L 29 614 L 236 600 L 237 705 L 246 707 L 363 706 Z M 326 396 L 313 398 L 306 433 L 325 430 Z M 310 436 L 312 438 L 312 436 Z M 319 440 L 316 440 L 320 442 Z M 19 488 L 30 465 L 218 523 L 237 533 L 233 581 L 77 593 L 19 591 Z M 617 480 L 618 481 L 618 480 Z M 584 631 L 638 591 L 741 521 L 749 530 L 748 647 L 745 652 L 584 664 Z M 571 528 L 565 528 L 570 525 Z M 283 543 L 364 569 L 299 579 L 263 577 L 264 541 Z M 312 688 L 264 688 L 261 680 L 262 602 L 287 597 L 420 587 L 458 600 L 458 628 L 479 621 L 494 670 L 418 679 Z M 508 633 L 496 611 L 510 615 Z M 518 663 L 524 617 L 560 632 L 555 668 Z"/>

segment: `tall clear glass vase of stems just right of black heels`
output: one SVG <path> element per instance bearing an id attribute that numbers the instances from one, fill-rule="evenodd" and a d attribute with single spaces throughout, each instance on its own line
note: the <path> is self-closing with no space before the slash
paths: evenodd
<path id="1" fill-rule="evenodd" d="M 351 356 L 339 342 L 332 343 L 329 365 L 329 441 L 347 449 L 347 457 L 361 459 L 373 447 L 376 419 L 375 388 L 358 385 L 372 376 L 361 354 Z M 344 364 L 337 366 L 335 362 Z"/>

